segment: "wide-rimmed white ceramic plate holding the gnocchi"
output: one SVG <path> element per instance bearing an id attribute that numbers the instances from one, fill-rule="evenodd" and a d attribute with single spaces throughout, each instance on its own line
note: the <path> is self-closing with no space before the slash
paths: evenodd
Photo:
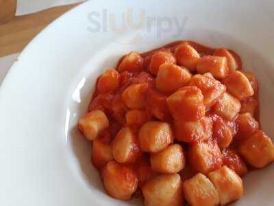
<path id="1" fill-rule="evenodd" d="M 0 205 L 138 205 L 103 192 L 75 125 L 99 73 L 125 53 L 177 39 L 236 50 L 260 82 L 262 128 L 274 137 L 274 1 L 88 1 L 30 43 L 0 90 Z M 121 25 L 133 10 L 136 30 Z M 106 14 L 106 15 L 105 15 Z M 149 25 L 154 18 L 156 25 Z M 100 21 L 100 23 L 99 23 Z M 177 33 L 175 21 L 182 25 Z M 105 24 L 107 22 L 107 24 Z M 100 31 L 95 31 L 101 27 Z M 147 30 L 149 27 L 149 30 Z M 273 205 L 274 165 L 245 176 L 236 205 Z"/>

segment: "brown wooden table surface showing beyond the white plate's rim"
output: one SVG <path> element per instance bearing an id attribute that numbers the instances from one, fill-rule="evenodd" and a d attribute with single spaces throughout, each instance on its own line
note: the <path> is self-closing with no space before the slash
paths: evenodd
<path id="1" fill-rule="evenodd" d="M 21 52 L 43 28 L 78 4 L 14 16 L 16 0 L 0 0 L 0 57 Z"/>

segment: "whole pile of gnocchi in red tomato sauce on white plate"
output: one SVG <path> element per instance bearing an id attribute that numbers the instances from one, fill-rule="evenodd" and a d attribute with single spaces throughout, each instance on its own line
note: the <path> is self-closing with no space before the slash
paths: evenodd
<path id="1" fill-rule="evenodd" d="M 146 206 L 227 205 L 274 161 L 256 76 L 232 50 L 178 41 L 99 76 L 79 131 L 105 192 Z"/>

